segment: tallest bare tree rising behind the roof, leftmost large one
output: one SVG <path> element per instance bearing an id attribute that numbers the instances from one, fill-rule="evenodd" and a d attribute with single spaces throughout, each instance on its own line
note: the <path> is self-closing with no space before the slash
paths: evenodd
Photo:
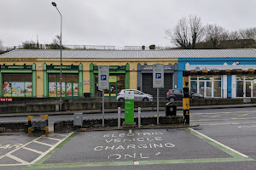
<path id="1" fill-rule="evenodd" d="M 178 20 L 177 26 L 165 31 L 166 39 L 183 49 L 195 48 L 195 44 L 203 36 L 201 18 L 190 15 L 187 18 Z"/>

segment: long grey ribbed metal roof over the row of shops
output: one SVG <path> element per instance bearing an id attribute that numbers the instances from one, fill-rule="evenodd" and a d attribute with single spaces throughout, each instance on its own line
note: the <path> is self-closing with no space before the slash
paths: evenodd
<path id="1" fill-rule="evenodd" d="M 0 58 L 60 58 L 59 49 L 15 49 Z M 256 49 L 62 50 L 64 59 L 256 58 Z"/>

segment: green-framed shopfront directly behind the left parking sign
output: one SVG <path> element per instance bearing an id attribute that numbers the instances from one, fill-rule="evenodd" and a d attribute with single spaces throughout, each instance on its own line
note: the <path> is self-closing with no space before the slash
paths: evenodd
<path id="1" fill-rule="evenodd" d="M 116 98 L 122 89 L 130 85 L 130 65 L 109 66 L 109 90 L 106 90 L 106 98 Z M 90 64 L 90 97 L 102 97 L 102 91 L 98 89 L 98 66 Z"/>

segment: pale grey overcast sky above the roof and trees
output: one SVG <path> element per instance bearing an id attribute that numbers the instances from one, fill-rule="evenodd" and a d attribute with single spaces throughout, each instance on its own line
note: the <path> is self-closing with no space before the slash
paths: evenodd
<path id="1" fill-rule="evenodd" d="M 0 0 L 3 46 L 50 43 L 60 34 L 51 0 Z M 256 0 L 55 0 L 66 45 L 173 46 L 165 30 L 195 14 L 204 24 L 235 31 L 256 26 Z"/>

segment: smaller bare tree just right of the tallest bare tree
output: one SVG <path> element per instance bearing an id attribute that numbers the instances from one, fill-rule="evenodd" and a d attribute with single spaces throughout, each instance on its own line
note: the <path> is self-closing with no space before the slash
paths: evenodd
<path id="1" fill-rule="evenodd" d="M 212 48 L 217 48 L 220 41 L 227 40 L 229 37 L 229 31 L 222 26 L 208 24 L 205 27 L 206 41 L 212 42 Z"/>

